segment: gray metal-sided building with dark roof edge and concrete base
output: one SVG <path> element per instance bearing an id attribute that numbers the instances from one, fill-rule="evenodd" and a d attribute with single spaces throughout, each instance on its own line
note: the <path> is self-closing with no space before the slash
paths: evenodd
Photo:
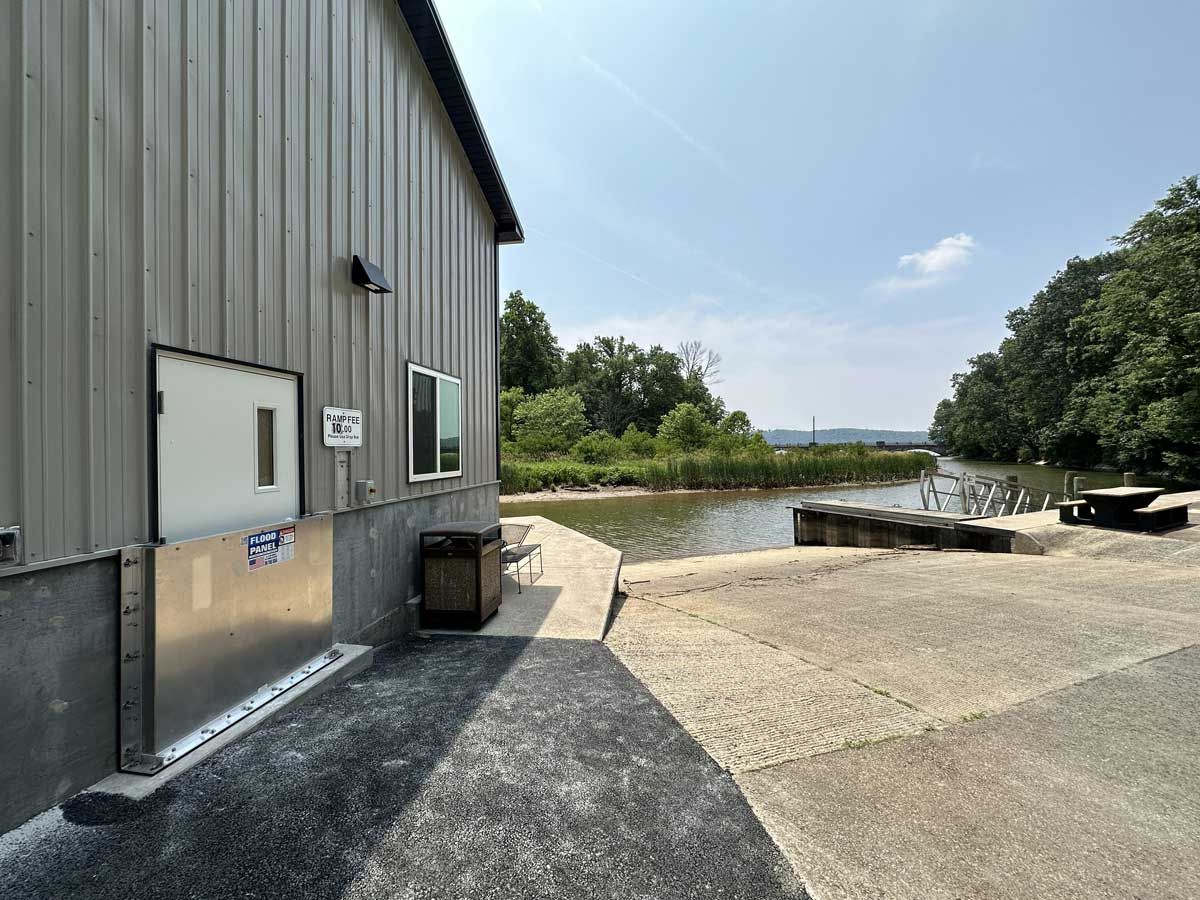
<path id="1" fill-rule="evenodd" d="M 0 18 L 4 830 L 118 767 L 121 548 L 215 533 L 234 438 L 205 432 L 257 440 L 246 503 L 283 510 L 217 497 L 216 530 L 330 514 L 332 640 L 406 632 L 415 532 L 498 515 L 497 247 L 522 232 L 428 0 Z M 175 390 L 164 360 L 226 382 Z M 236 379 L 276 376 L 251 418 Z M 329 408 L 359 445 L 326 445 Z"/>

